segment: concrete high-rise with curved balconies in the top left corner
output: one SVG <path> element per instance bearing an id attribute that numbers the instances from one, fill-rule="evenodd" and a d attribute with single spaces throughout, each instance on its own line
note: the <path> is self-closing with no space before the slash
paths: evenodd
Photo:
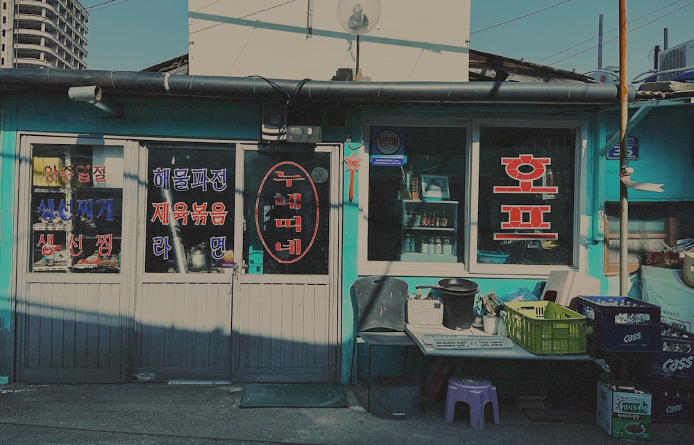
<path id="1" fill-rule="evenodd" d="M 76 0 L 0 0 L 1 68 L 87 68 L 89 13 Z"/>

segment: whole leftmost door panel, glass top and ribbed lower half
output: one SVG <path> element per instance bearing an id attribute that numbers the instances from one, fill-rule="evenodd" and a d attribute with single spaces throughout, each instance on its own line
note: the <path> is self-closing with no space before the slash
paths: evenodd
<path id="1" fill-rule="evenodd" d="M 133 187 L 124 143 L 22 136 L 20 150 L 17 381 L 122 382 L 129 293 L 120 259 Z"/>

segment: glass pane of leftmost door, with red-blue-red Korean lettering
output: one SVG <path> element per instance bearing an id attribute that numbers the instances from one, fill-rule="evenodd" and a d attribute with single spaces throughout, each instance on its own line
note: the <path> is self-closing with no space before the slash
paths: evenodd
<path id="1" fill-rule="evenodd" d="M 123 148 L 35 145 L 31 162 L 31 272 L 119 272 Z"/>

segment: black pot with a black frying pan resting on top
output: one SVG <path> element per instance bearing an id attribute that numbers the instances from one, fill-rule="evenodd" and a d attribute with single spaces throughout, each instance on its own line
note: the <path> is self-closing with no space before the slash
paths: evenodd
<path id="1" fill-rule="evenodd" d="M 473 315 L 475 294 L 480 292 L 480 286 L 477 286 L 475 281 L 462 278 L 446 278 L 440 280 L 437 286 L 415 287 L 417 289 L 430 288 L 441 293 L 443 326 L 459 331 L 470 329 L 475 317 Z"/>

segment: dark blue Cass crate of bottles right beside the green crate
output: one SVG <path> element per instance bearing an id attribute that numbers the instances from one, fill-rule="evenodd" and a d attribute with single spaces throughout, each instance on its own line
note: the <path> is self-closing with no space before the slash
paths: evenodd
<path id="1" fill-rule="evenodd" d="M 631 297 L 576 297 L 576 312 L 586 317 L 589 350 L 661 351 L 660 306 Z"/>

